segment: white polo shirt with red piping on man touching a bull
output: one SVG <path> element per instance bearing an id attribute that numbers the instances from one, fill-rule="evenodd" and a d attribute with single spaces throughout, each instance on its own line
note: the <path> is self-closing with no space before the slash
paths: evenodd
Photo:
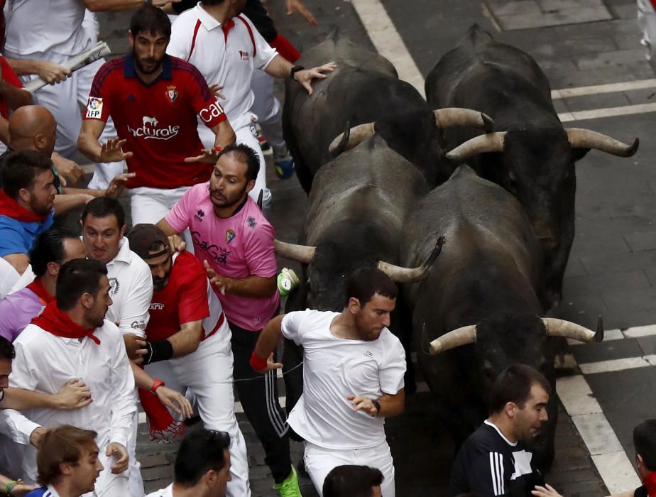
<path id="1" fill-rule="evenodd" d="M 177 16 L 166 53 L 195 65 L 207 84 L 223 86 L 221 104 L 233 129 L 250 124 L 253 70 L 278 55 L 243 14 L 222 26 L 200 4 Z"/>

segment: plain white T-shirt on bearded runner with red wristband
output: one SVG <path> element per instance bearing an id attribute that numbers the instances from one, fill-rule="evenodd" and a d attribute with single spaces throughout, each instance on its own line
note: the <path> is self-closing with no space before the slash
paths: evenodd
<path id="1" fill-rule="evenodd" d="M 335 337 L 339 312 L 305 310 L 283 317 L 283 336 L 303 347 L 303 393 L 287 420 L 298 435 L 324 449 L 367 449 L 386 442 L 383 417 L 357 413 L 349 395 L 376 400 L 403 388 L 405 351 L 383 328 L 370 342 Z"/>

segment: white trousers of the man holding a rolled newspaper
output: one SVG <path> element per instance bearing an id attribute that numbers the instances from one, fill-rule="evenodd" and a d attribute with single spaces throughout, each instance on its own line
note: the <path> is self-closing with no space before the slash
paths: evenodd
<path id="1" fill-rule="evenodd" d="M 6 57 L 22 58 L 10 53 L 7 53 Z M 50 60 L 58 64 L 68 60 L 65 55 L 55 53 L 35 53 L 30 58 Z M 87 99 L 94 76 L 103 64 L 104 60 L 97 60 L 73 72 L 65 82 L 54 85 L 46 84 L 45 87 L 33 94 L 34 103 L 43 105 L 55 116 L 55 121 L 57 121 L 55 151 L 58 151 L 66 158 L 72 158 L 77 152 L 77 136 L 80 135 L 80 128 L 82 127 L 80 106 L 82 106 L 82 109 L 87 108 Z M 116 138 L 116 129 L 114 128 L 114 122 L 108 119 L 99 141 L 104 143 L 112 138 Z M 95 164 L 94 176 L 89 182 L 89 188 L 104 190 L 114 176 L 123 173 L 124 168 L 125 162 L 123 160 L 115 163 Z"/>

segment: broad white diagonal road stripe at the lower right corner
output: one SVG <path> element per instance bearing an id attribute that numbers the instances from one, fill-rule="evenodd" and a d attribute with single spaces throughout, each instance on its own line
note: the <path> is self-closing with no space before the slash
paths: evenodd
<path id="1" fill-rule="evenodd" d="M 599 476 L 611 493 L 640 486 L 631 461 L 592 395 L 584 376 L 567 376 L 556 380 L 556 391 L 567 414 L 588 447 Z"/>

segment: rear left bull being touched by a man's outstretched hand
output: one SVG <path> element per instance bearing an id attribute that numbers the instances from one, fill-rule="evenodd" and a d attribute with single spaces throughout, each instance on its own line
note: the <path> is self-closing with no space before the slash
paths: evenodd
<path id="1" fill-rule="evenodd" d="M 314 67 L 316 60 L 334 60 L 337 70 L 317 80 L 312 95 L 299 84 L 285 84 L 283 131 L 305 192 L 322 165 L 374 133 L 435 185 L 451 174 L 438 129 L 469 124 L 491 130 L 492 122 L 476 111 L 432 111 L 386 58 L 337 33 L 303 53 L 298 63 Z"/>

